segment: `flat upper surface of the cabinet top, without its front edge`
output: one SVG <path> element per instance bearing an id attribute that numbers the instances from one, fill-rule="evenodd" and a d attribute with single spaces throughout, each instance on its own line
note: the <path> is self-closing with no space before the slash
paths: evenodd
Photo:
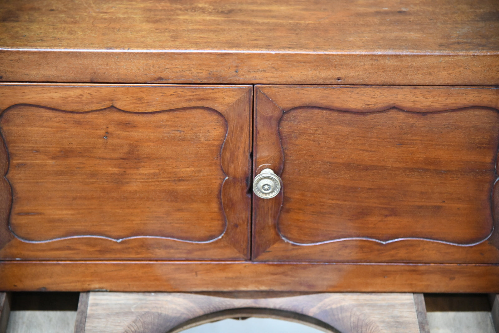
<path id="1" fill-rule="evenodd" d="M 499 51 L 497 9 L 496 1 L 471 0 L 6 0 L 0 42 L 34 49 Z"/>

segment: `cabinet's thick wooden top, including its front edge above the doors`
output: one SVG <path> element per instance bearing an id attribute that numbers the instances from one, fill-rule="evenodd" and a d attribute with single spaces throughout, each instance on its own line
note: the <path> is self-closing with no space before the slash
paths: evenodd
<path id="1" fill-rule="evenodd" d="M 497 1 L 6 0 L 5 81 L 498 84 Z"/>

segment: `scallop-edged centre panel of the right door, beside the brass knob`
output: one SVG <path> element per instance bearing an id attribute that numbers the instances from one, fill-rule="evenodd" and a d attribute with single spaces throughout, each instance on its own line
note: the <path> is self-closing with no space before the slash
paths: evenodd
<path id="1" fill-rule="evenodd" d="M 480 107 L 288 111 L 279 124 L 286 184 L 280 234 L 299 244 L 480 242 L 494 225 L 498 132 L 498 111 Z"/>

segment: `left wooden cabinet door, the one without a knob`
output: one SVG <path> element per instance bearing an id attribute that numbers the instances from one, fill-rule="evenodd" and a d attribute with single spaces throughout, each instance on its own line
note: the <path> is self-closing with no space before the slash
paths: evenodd
<path id="1" fill-rule="evenodd" d="M 248 259 L 251 95 L 1 84 L 0 259 Z"/>

